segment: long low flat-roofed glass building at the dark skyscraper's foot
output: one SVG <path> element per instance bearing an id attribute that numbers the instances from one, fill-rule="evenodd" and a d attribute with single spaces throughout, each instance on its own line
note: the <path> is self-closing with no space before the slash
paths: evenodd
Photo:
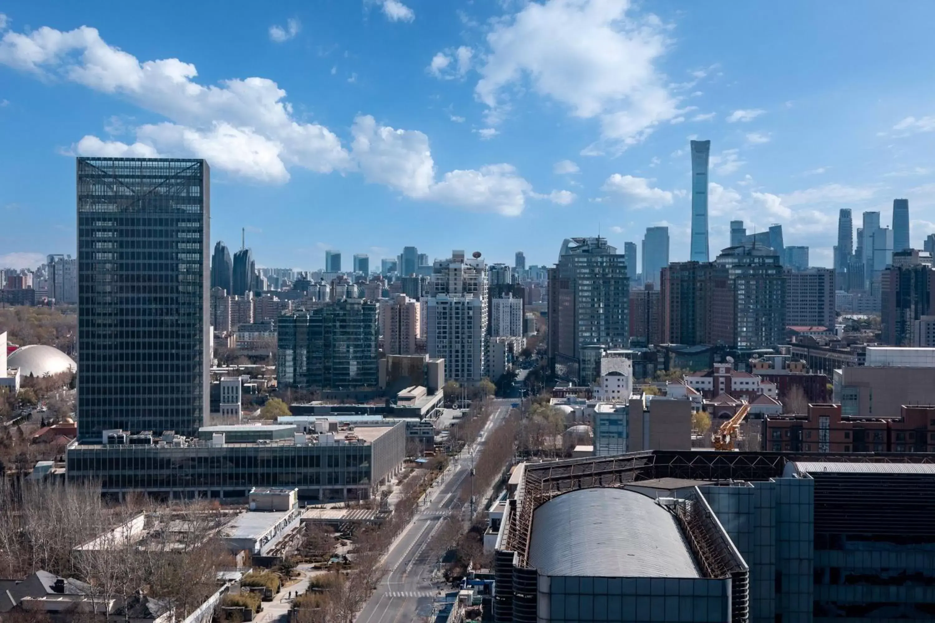
<path id="1" fill-rule="evenodd" d="M 68 446 L 69 482 L 94 480 L 118 497 L 243 500 L 254 487 L 286 487 L 297 488 L 302 501 L 339 502 L 369 498 L 406 457 L 404 422 L 322 434 L 280 425 L 209 427 L 202 433 L 209 440 L 110 433 L 104 441 L 116 443 Z"/>

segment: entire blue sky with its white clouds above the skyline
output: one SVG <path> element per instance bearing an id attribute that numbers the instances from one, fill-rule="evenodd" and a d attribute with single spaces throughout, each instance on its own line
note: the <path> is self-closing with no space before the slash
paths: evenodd
<path id="1" fill-rule="evenodd" d="M 173 3 L 166 7 L 171 8 Z M 232 8 L 233 7 L 233 8 Z M 728 221 L 830 265 L 841 207 L 935 232 L 935 3 L 0 1 L 0 265 L 74 252 L 74 155 L 204 157 L 212 239 L 258 264 L 552 263 L 668 224 L 688 141 Z"/>

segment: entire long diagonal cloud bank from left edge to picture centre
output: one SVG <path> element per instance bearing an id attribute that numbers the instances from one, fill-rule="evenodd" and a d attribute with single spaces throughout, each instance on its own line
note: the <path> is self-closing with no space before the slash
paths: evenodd
<path id="1" fill-rule="evenodd" d="M 135 142 L 84 136 L 71 148 L 80 155 L 206 158 L 232 175 L 270 183 L 288 180 L 293 166 L 318 173 L 359 171 L 367 181 L 413 199 L 503 215 L 521 213 L 526 199 L 569 201 L 567 191 L 535 193 L 506 163 L 455 170 L 439 179 L 426 135 L 378 124 L 367 115 L 354 120 L 352 143 L 345 149 L 323 125 L 296 119 L 286 92 L 272 80 L 232 78 L 205 86 L 194 80 L 193 64 L 140 63 L 87 26 L 7 32 L 0 38 L 0 64 L 120 95 L 167 119 L 127 129 L 124 134 L 135 134 Z"/>

